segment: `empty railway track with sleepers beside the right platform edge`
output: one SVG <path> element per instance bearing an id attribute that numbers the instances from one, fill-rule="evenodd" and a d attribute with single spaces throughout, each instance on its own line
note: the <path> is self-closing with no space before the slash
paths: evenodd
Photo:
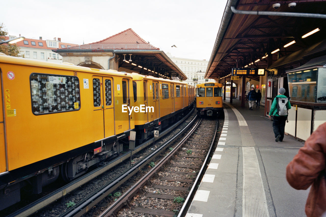
<path id="1" fill-rule="evenodd" d="M 218 122 L 200 119 L 139 181 L 98 216 L 182 216 L 201 180 Z"/>

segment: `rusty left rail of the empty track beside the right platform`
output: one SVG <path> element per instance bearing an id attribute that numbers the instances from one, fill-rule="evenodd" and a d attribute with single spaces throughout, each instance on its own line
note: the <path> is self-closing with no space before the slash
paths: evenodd
<path id="1" fill-rule="evenodd" d="M 121 195 L 118 200 L 116 200 L 113 204 L 110 205 L 106 210 L 104 210 L 98 217 L 109 217 L 115 216 L 114 214 L 120 210 L 121 207 L 128 205 L 130 206 L 129 200 L 137 193 L 142 192 L 142 187 L 148 183 L 148 180 L 154 176 L 157 176 L 157 171 L 160 170 L 165 164 L 168 163 L 171 157 L 174 156 L 176 152 L 178 152 L 182 145 L 187 141 L 187 139 L 192 135 L 192 133 L 199 126 L 202 119 L 200 119 L 196 125 L 190 130 L 190 132 L 176 145 L 176 147 L 166 155 L 158 164 L 156 164 L 148 173 L 146 173 L 138 182 L 136 182 L 133 186 L 129 188 L 123 195 Z"/>

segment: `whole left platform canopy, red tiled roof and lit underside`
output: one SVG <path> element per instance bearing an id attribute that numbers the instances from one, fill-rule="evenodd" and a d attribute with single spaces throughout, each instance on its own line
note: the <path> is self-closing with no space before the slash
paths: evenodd
<path id="1" fill-rule="evenodd" d="M 94 56 L 110 53 L 113 54 L 115 62 L 118 63 L 118 68 L 122 67 L 155 77 L 187 79 L 185 74 L 163 51 L 146 42 L 131 28 L 94 43 L 53 51 L 66 56 L 76 55 L 76 53 L 88 53 L 88 55 L 93 53 Z"/>

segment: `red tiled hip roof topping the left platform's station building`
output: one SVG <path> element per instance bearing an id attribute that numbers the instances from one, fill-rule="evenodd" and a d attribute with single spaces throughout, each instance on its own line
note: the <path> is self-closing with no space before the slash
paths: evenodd
<path id="1" fill-rule="evenodd" d="M 159 48 L 142 39 L 131 28 L 101 41 L 71 47 L 70 49 L 159 50 Z"/>

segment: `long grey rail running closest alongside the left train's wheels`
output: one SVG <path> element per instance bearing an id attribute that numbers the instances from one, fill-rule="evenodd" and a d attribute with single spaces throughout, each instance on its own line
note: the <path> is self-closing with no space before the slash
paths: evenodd
<path id="1" fill-rule="evenodd" d="M 166 134 L 170 133 L 174 128 L 176 128 L 178 125 L 180 125 L 182 122 L 184 122 L 185 119 L 187 119 L 192 114 L 193 111 L 194 111 L 194 108 L 192 108 L 191 111 L 184 118 L 182 118 L 180 121 L 178 121 L 177 123 L 173 124 L 168 129 L 161 132 L 159 134 L 158 138 L 161 138 L 161 137 L 165 136 Z M 153 141 L 154 141 L 154 138 L 151 138 L 151 139 L 145 141 L 141 145 L 137 146 L 136 149 L 132 151 L 132 154 L 140 152 L 142 149 L 144 149 L 148 145 L 152 144 Z M 123 162 L 126 159 L 129 159 L 130 158 L 130 152 L 131 151 L 127 151 L 123 155 L 121 155 L 121 156 L 115 158 L 114 160 L 108 162 L 108 164 L 106 164 L 105 166 L 98 167 L 97 169 L 87 173 L 86 175 L 76 179 L 75 181 L 72 181 L 72 182 L 68 183 L 67 185 L 59 188 L 58 190 L 56 190 L 56 191 L 54 191 L 54 192 L 52 192 L 52 193 L 38 199 L 38 200 L 36 200 L 35 202 L 23 207 L 20 210 L 17 210 L 15 212 L 11 213 L 7 217 L 27 217 L 27 216 L 32 215 L 33 213 L 37 212 L 38 210 L 50 205 L 54 201 L 66 196 L 67 194 L 74 191 L 78 187 L 80 187 L 83 184 L 91 181 L 92 179 L 94 179 L 95 177 L 101 175 L 102 173 L 106 172 L 107 170 L 111 169 L 113 166 L 116 166 L 116 165 L 120 164 L 121 162 Z"/>

